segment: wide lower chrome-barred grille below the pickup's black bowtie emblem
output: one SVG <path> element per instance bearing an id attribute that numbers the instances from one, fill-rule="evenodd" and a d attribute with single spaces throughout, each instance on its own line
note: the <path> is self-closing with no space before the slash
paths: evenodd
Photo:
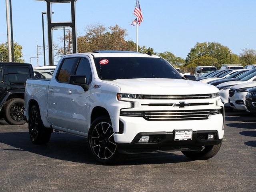
<path id="1" fill-rule="evenodd" d="M 207 119 L 209 115 L 209 109 L 182 111 L 144 111 L 144 118 L 154 121 Z"/>

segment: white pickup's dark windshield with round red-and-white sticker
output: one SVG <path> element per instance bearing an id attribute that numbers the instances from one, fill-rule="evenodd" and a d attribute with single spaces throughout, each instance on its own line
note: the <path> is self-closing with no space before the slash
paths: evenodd
<path id="1" fill-rule="evenodd" d="M 97 73 L 102 80 L 133 78 L 181 79 L 182 76 L 164 59 L 148 57 L 96 57 Z"/>

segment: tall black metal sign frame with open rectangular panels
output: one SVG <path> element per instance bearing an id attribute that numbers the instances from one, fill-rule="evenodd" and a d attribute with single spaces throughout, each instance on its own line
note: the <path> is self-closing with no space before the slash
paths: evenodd
<path id="1" fill-rule="evenodd" d="M 49 50 L 49 65 L 54 65 L 53 62 L 53 41 L 52 41 L 52 30 L 56 27 L 70 27 L 72 29 L 72 52 L 77 53 L 77 41 L 76 41 L 76 14 L 75 14 L 75 3 L 77 0 L 40 0 L 45 1 L 47 4 L 47 30 L 48 30 L 48 50 Z M 70 3 L 71 5 L 71 22 L 52 22 L 52 3 Z M 68 13 L 70 14 L 70 13 Z"/>

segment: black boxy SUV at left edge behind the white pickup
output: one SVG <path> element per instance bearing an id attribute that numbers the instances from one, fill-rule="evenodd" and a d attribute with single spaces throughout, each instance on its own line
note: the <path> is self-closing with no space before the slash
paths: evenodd
<path id="1" fill-rule="evenodd" d="M 0 119 L 10 125 L 22 125 L 24 119 L 24 83 L 34 78 L 29 63 L 0 62 Z"/>

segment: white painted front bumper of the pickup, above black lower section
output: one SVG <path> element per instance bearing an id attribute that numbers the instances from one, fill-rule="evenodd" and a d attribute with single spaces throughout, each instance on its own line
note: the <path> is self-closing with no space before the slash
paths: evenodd
<path id="1" fill-rule="evenodd" d="M 166 133 L 173 134 L 174 130 L 193 131 L 217 131 L 218 139 L 224 135 L 224 109 L 223 113 L 209 115 L 208 119 L 200 120 L 180 120 L 180 121 L 147 121 L 142 117 L 120 116 L 122 122 L 122 133 L 114 133 L 117 144 L 132 144 L 134 139 L 141 133 Z M 171 144 L 171 143 L 170 143 Z"/>

